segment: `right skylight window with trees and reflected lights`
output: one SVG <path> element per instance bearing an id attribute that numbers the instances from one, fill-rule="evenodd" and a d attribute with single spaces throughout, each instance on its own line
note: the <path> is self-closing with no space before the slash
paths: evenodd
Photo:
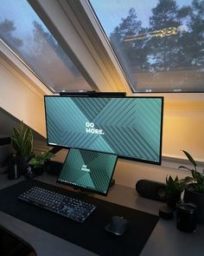
<path id="1" fill-rule="evenodd" d="M 90 0 L 133 92 L 204 91 L 204 2 Z"/>

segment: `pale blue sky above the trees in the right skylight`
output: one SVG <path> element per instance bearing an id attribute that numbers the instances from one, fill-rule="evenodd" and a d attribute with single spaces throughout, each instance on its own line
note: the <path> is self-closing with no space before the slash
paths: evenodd
<path id="1" fill-rule="evenodd" d="M 142 22 L 143 27 L 149 27 L 151 10 L 156 7 L 158 0 L 90 0 L 99 21 L 107 36 L 121 22 L 121 18 L 128 16 L 128 11 L 133 7 Z M 176 0 L 179 7 L 189 5 L 192 0 Z"/>

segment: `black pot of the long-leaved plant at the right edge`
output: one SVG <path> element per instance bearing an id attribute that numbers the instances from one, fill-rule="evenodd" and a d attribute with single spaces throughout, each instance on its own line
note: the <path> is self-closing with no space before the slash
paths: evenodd
<path id="1" fill-rule="evenodd" d="M 204 194 L 194 191 L 193 187 L 188 187 L 185 190 L 183 199 L 185 201 L 193 202 L 198 207 L 198 223 L 204 224 Z"/>

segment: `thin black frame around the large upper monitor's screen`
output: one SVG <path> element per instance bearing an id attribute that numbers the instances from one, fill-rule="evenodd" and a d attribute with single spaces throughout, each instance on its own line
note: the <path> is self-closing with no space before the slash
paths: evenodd
<path id="1" fill-rule="evenodd" d="M 45 103 L 45 98 L 47 97 L 64 97 L 64 98 L 79 98 L 79 97 L 83 97 L 84 96 L 76 96 L 76 95 L 44 95 L 44 108 L 45 108 L 45 121 L 46 121 L 46 135 L 47 135 L 47 145 L 50 146 L 50 147 L 61 147 L 61 148 L 67 148 L 67 149 L 70 149 L 70 148 L 74 148 L 74 147 L 68 147 L 68 146 L 65 146 L 65 145 L 61 145 L 61 144 L 56 144 L 54 145 L 53 143 L 49 143 L 48 142 L 48 125 L 47 125 L 47 117 L 46 117 L 46 103 Z M 128 156 L 124 156 L 124 155 L 119 155 L 118 154 L 118 158 L 121 158 L 121 159 L 126 159 L 126 160 L 130 160 L 130 161 L 137 161 L 137 162 L 143 162 L 143 163 L 149 163 L 149 164 L 154 164 L 154 165 L 157 165 L 157 166 L 160 166 L 162 164 L 162 148 L 163 148 L 163 102 L 164 102 L 164 97 L 163 96 L 95 96 L 95 97 L 90 97 L 90 98 L 137 98 L 137 99 L 161 99 L 162 100 L 162 105 L 161 105 L 161 126 L 160 126 L 160 152 L 159 152 L 159 161 L 149 161 L 149 160 L 143 160 L 143 159 L 139 159 L 139 158 L 134 158 L 134 157 L 128 157 Z M 89 150 L 89 151 L 96 151 L 96 150 L 92 150 L 92 149 L 89 149 L 89 148 L 76 148 L 76 149 L 82 149 L 82 150 Z M 105 152 L 105 151 L 96 151 L 96 152 L 100 152 L 100 153 L 105 153 L 105 154 L 114 154 L 114 153 L 109 153 L 109 152 Z"/>

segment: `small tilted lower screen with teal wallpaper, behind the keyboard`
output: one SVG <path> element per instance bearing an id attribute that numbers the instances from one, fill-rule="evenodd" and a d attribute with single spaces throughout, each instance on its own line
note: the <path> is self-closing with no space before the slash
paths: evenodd
<path id="1" fill-rule="evenodd" d="M 106 195 L 118 156 L 71 148 L 58 182 Z"/>

